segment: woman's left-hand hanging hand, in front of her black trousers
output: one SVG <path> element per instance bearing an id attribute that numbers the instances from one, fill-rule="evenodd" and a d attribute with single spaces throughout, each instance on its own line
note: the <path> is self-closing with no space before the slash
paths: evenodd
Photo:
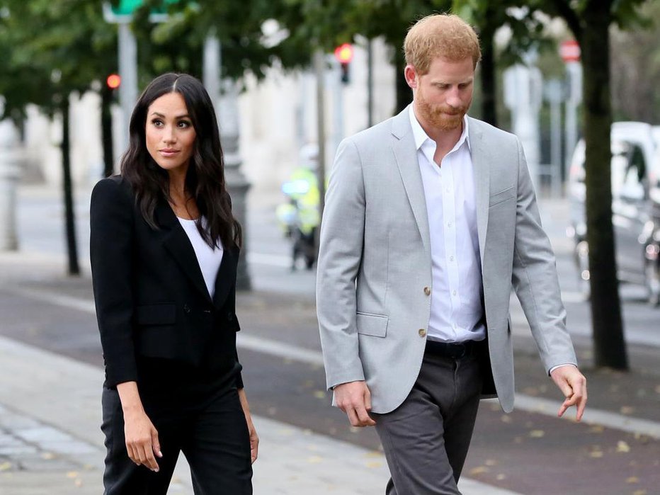
<path id="1" fill-rule="evenodd" d="M 158 472 L 156 457 L 163 457 L 158 440 L 158 431 L 142 407 L 137 382 L 123 382 L 117 385 L 119 399 L 124 413 L 124 437 L 128 457 L 138 466 L 144 465 Z"/>

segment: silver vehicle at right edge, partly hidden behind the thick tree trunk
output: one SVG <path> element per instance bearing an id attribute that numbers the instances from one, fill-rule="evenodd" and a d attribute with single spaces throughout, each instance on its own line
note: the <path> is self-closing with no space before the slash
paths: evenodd
<path id="1" fill-rule="evenodd" d="M 644 285 L 652 305 L 660 305 L 660 126 L 616 122 L 611 130 L 612 223 L 617 275 Z M 576 145 L 569 172 L 571 225 L 581 290 L 589 294 L 586 241 L 585 144 Z"/>

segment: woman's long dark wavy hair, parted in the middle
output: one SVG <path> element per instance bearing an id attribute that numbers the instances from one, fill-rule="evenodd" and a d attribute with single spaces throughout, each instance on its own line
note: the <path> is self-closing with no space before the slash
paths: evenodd
<path id="1" fill-rule="evenodd" d="M 166 93 L 179 93 L 197 137 L 186 173 L 186 191 L 200 211 L 197 228 L 209 246 L 241 246 L 241 225 L 232 215 L 232 200 L 224 181 L 224 158 L 215 111 L 202 83 L 188 74 L 163 74 L 154 79 L 135 104 L 130 118 L 130 143 L 121 160 L 121 175 L 135 191 L 144 220 L 159 228 L 154 217 L 159 199 L 170 200 L 169 175 L 147 151 L 145 128 L 149 106 Z M 201 222 L 201 216 L 207 223 Z"/>

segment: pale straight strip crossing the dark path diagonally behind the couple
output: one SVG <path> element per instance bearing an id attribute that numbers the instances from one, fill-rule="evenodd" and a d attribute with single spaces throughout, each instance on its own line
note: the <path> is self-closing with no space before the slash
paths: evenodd
<path id="1" fill-rule="evenodd" d="M 30 297 L 30 299 L 50 302 L 53 305 L 77 309 L 91 314 L 96 313 L 92 301 L 81 299 L 79 297 L 61 295 L 47 290 L 27 288 L 8 288 L 7 290 L 18 295 Z M 293 346 L 289 343 L 273 341 L 269 338 L 251 336 L 243 334 L 242 332 L 237 334 L 237 346 L 249 351 L 274 355 L 275 357 L 283 359 L 296 360 L 309 365 L 323 365 L 323 354 L 320 351 Z M 557 416 L 559 404 L 558 400 L 552 401 L 550 399 L 543 399 L 525 394 L 516 394 L 516 408 L 523 411 L 545 414 L 547 416 Z M 574 419 L 571 419 L 570 414 L 565 414 L 563 419 L 574 421 Z M 607 428 L 615 428 L 620 431 L 627 431 L 629 433 L 637 433 L 639 435 L 660 439 L 660 423 L 649 421 L 647 419 L 637 419 L 610 411 L 587 408 L 582 421 L 587 424 L 597 424 Z"/>

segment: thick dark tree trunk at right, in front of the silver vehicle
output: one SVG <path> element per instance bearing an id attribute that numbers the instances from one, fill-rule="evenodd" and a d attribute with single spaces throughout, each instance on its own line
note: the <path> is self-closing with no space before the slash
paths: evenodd
<path id="1" fill-rule="evenodd" d="M 586 222 L 595 364 L 627 370 L 610 182 L 610 1 L 591 1 L 581 35 L 584 64 Z"/>

